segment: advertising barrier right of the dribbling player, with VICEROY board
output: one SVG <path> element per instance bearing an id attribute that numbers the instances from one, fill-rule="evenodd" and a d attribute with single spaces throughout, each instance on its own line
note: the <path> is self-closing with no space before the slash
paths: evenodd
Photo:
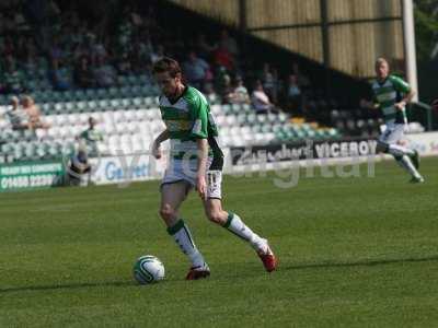
<path id="1" fill-rule="evenodd" d="M 422 156 L 438 155 L 438 132 L 406 134 L 405 140 L 406 145 L 417 150 Z M 292 166 L 348 166 L 360 163 L 368 163 L 369 169 L 373 169 L 373 163 L 393 160 L 388 154 L 376 154 L 376 139 L 354 138 L 250 148 L 233 147 L 229 149 L 224 172 L 239 176 L 247 172 L 286 169 Z"/>

